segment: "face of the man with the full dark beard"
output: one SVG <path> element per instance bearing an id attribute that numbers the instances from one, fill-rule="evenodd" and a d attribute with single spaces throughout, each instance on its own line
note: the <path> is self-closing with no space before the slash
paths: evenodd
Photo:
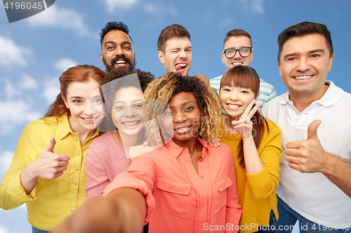
<path id="1" fill-rule="evenodd" d="M 133 70 L 135 55 L 131 38 L 124 31 L 109 31 L 102 40 L 100 60 L 107 72 L 114 69 Z"/>

